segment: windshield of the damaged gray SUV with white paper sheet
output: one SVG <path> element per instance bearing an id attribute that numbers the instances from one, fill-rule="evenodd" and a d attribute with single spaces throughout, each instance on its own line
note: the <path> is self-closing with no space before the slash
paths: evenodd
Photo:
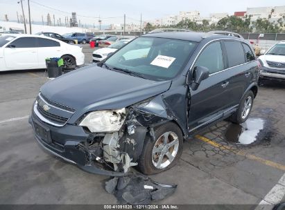
<path id="1" fill-rule="evenodd" d="M 193 41 L 139 37 L 116 51 L 105 64 L 148 79 L 170 79 L 184 68 L 195 46 Z"/>

